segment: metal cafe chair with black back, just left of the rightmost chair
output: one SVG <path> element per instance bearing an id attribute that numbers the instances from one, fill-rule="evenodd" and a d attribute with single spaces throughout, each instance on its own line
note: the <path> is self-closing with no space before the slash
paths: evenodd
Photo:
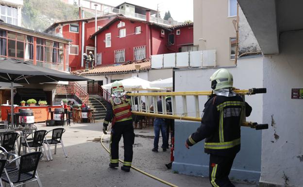
<path id="1" fill-rule="evenodd" d="M 29 153 L 31 153 L 31 149 L 35 149 L 36 151 L 38 149 L 39 151 L 43 149 L 43 152 L 46 154 L 48 161 L 50 161 L 49 155 L 46 153 L 46 148 L 43 142 L 48 132 L 46 130 L 39 130 L 39 131 L 35 131 L 32 134 L 34 134 L 33 141 L 28 141 L 27 137 L 31 135 L 29 134 L 26 137 L 23 137 L 25 142 L 22 142 L 22 145 L 28 148 Z"/>

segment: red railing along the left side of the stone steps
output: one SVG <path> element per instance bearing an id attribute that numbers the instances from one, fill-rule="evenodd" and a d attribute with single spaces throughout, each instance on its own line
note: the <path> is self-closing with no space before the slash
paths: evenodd
<path id="1" fill-rule="evenodd" d="M 68 82 L 68 85 L 57 85 L 56 94 L 76 95 L 82 103 L 88 104 L 88 93 L 76 82 Z"/>

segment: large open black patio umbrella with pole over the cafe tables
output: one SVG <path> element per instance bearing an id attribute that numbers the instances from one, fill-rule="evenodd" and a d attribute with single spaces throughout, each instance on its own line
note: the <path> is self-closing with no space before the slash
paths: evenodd
<path id="1" fill-rule="evenodd" d="M 49 83 L 54 81 L 88 81 L 69 73 L 34 66 L 18 59 L 0 60 L 0 82 L 11 83 L 11 124 L 14 124 L 14 83 Z"/>

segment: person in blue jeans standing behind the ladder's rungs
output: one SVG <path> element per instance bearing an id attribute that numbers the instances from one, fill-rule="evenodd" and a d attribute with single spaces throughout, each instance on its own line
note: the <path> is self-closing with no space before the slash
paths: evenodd
<path id="1" fill-rule="evenodd" d="M 162 114 L 162 101 L 161 101 L 161 96 L 160 100 L 157 101 L 157 107 L 158 107 L 158 114 Z M 150 110 L 153 110 L 153 106 L 151 105 Z M 170 111 L 170 107 L 168 102 L 166 102 L 166 110 L 167 112 Z M 154 129 L 154 140 L 153 140 L 153 152 L 158 152 L 158 143 L 159 143 L 159 135 L 160 135 L 160 130 L 161 130 L 161 135 L 162 135 L 162 150 L 166 151 L 168 149 L 168 140 L 167 140 L 167 135 L 166 135 L 166 123 L 165 119 L 163 118 L 155 118 L 153 121 L 153 129 Z"/>

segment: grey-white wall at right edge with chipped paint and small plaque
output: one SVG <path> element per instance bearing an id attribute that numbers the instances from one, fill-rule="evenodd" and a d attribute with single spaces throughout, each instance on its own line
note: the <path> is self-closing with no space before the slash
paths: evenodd
<path id="1" fill-rule="evenodd" d="M 303 88 L 302 40 L 303 31 L 283 33 L 280 54 L 264 57 L 263 121 L 271 125 L 262 133 L 260 182 L 279 187 L 303 184 L 303 100 L 291 99 L 291 88 Z"/>

